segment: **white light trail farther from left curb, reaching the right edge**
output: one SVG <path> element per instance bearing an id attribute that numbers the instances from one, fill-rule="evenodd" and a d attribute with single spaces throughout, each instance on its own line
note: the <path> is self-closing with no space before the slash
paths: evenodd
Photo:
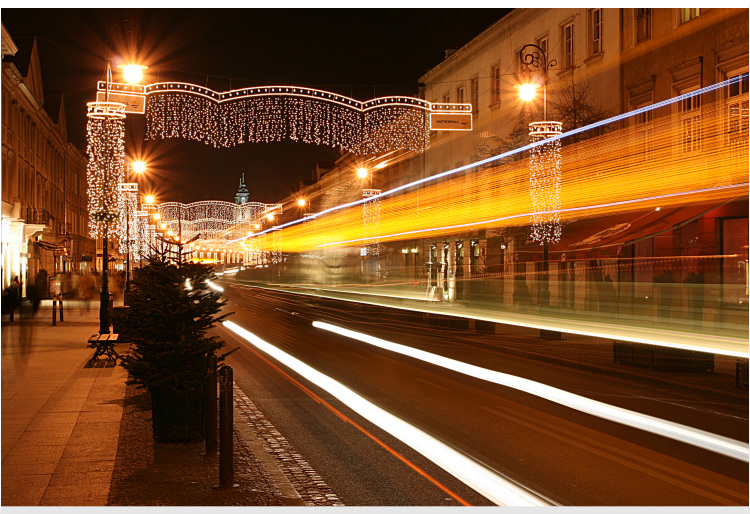
<path id="1" fill-rule="evenodd" d="M 579 396 L 556 387 L 534 382 L 526 378 L 516 377 L 514 375 L 508 375 L 507 373 L 501 373 L 499 371 L 493 371 L 486 368 L 480 368 L 472 364 L 460 362 L 433 353 L 418 350 L 397 343 L 392 343 L 384 339 L 380 339 L 374 336 L 363 334 L 361 332 L 355 332 L 342 327 L 337 327 L 329 323 L 314 321 L 313 326 L 323 330 L 328 330 L 336 334 L 356 339 L 363 343 L 367 343 L 384 350 L 389 350 L 401 355 L 406 355 L 415 359 L 419 359 L 442 368 L 450 369 L 464 375 L 468 375 L 480 380 L 486 380 L 495 384 L 499 384 L 506 387 L 511 387 L 519 391 L 523 391 L 540 398 L 544 398 L 551 402 L 570 407 L 580 412 L 591 414 L 603 419 L 621 423 L 633 428 L 645 430 L 657 435 L 668 437 L 683 443 L 691 444 L 710 450 L 727 457 L 738 459 L 744 462 L 749 461 L 749 450 L 748 445 L 741 441 L 735 441 L 728 437 L 711 434 L 696 428 L 691 428 L 679 423 L 673 423 L 671 421 L 662 420 L 646 414 L 629 411 L 613 405 L 608 405 L 596 400 L 591 400 L 583 396 Z"/>

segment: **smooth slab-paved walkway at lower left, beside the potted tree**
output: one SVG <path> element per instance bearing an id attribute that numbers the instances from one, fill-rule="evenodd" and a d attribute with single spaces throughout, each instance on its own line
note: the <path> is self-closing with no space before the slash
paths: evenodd
<path id="1" fill-rule="evenodd" d="M 57 326 L 50 300 L 24 307 L 2 323 L 2 505 L 106 505 L 127 372 L 85 367 L 98 303 Z"/>

